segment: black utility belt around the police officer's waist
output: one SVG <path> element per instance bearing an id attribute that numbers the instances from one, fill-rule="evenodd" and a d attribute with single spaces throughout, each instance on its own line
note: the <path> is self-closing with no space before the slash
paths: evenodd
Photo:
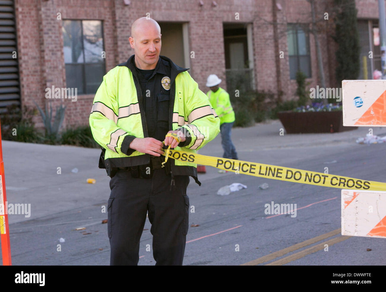
<path id="1" fill-rule="evenodd" d="M 127 167 L 119 167 L 118 170 L 130 171 L 131 177 L 134 178 L 152 178 L 153 171 L 155 169 L 163 168 L 165 170 L 166 175 L 170 175 L 171 172 L 171 163 L 170 160 L 164 163 L 164 167 L 162 167 L 162 163 L 165 161 L 165 156 L 153 156 L 150 155 L 150 162 L 148 164 L 135 165 L 135 166 L 127 166 Z"/>

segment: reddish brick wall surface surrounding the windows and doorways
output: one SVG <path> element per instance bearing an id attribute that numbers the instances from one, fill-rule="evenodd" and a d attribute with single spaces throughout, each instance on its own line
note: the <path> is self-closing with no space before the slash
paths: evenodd
<path id="1" fill-rule="evenodd" d="M 52 85 L 66 87 L 62 20 L 103 20 L 108 71 L 134 53 L 129 44 L 131 25 L 135 19 L 146 16 L 146 13 L 160 22 L 189 23 L 189 51 L 195 52 L 195 58 L 190 60 L 191 75 L 203 92 L 208 90 L 205 87 L 207 76 L 213 73 L 223 80 L 220 86 L 226 88 L 223 23 L 251 23 L 257 88 L 274 93 L 281 88 L 284 92 L 283 100 L 295 98 L 296 82 L 289 80 L 286 24 L 310 22 L 310 4 L 305 0 L 276 2 L 282 6 L 282 10 L 276 10 L 276 46 L 279 51 L 276 51 L 274 42 L 275 3 L 272 0 L 217 0 L 216 7 L 211 0 L 203 0 L 202 7 L 198 1 L 191 0 L 132 0 L 130 5 L 125 5 L 123 0 L 15 0 L 22 105 L 34 107 L 32 100 L 41 107 L 46 102 L 52 102 L 53 106 L 63 103 L 67 105 L 64 127 L 87 125 L 93 94 L 78 95 L 76 102 L 44 98 L 45 88 Z M 377 0 L 357 0 L 356 3 L 359 18 L 378 18 Z M 319 17 L 328 8 L 329 5 L 323 1 L 318 2 Z M 61 20 L 57 19 L 58 12 L 61 13 Z M 235 19 L 236 12 L 239 13 L 239 20 Z M 332 25 L 326 23 L 326 26 Z M 319 41 L 326 85 L 335 86 L 335 43 L 329 32 L 320 34 Z M 279 58 L 280 51 L 284 52 L 283 59 Z M 310 54 L 312 78 L 308 81 L 310 87 L 316 87 L 320 81 L 312 35 Z M 34 121 L 37 126 L 42 126 L 40 116 L 36 116 Z"/>

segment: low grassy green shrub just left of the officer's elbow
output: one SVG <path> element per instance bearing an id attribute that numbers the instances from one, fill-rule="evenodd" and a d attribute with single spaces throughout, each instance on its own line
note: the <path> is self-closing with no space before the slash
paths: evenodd
<path id="1" fill-rule="evenodd" d="M 100 147 L 93 138 L 90 126 L 80 126 L 75 129 L 68 128 L 62 133 L 60 143 L 88 148 Z"/>

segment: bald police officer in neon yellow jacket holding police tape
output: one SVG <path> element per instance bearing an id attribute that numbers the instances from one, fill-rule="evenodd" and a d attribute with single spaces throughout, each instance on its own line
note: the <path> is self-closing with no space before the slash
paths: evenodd
<path id="1" fill-rule="evenodd" d="M 147 212 L 156 265 L 182 265 L 189 176 L 199 183 L 194 154 L 217 136 L 220 121 L 188 69 L 159 56 L 155 20 L 135 20 L 131 34 L 134 55 L 103 77 L 90 114 L 93 137 L 103 148 L 100 167 L 111 177 L 110 265 L 138 264 Z M 163 167 L 169 145 L 191 154 Z"/>

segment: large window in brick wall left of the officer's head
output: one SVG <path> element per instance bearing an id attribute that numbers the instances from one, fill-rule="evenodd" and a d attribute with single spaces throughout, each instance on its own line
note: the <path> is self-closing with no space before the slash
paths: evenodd
<path id="1" fill-rule="evenodd" d="M 63 20 L 62 32 L 67 87 L 96 93 L 106 73 L 102 21 Z"/>

